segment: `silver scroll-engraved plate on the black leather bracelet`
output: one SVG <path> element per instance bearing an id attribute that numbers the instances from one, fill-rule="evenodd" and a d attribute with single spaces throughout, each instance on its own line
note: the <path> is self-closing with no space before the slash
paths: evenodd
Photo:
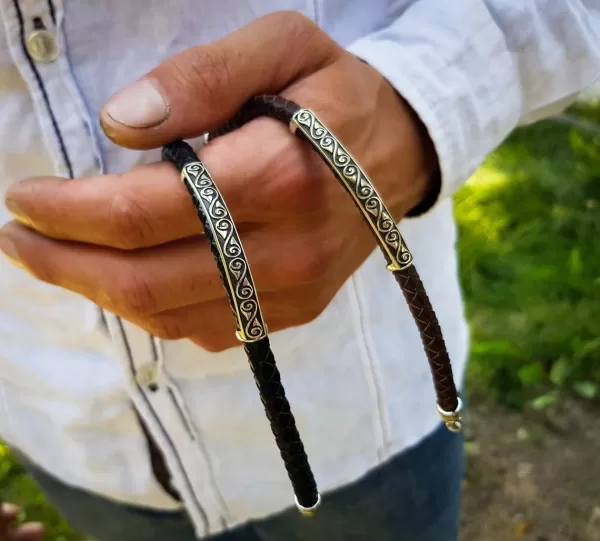
<path id="1" fill-rule="evenodd" d="M 267 336 L 258 295 L 239 233 L 223 196 L 202 162 L 186 165 L 182 180 L 194 192 L 199 209 L 208 222 L 225 273 L 232 310 L 237 319 L 237 337 L 242 342 L 256 342 Z"/>

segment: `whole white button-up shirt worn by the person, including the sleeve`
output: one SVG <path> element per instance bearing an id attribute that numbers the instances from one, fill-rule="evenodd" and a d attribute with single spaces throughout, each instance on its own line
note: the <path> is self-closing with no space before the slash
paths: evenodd
<path id="1" fill-rule="evenodd" d="M 401 229 L 460 382 L 468 330 L 450 196 L 517 124 L 560 111 L 598 78 L 599 4 L 0 0 L 0 191 L 35 175 L 85 177 L 157 161 L 158 151 L 125 150 L 102 136 L 97 116 L 108 97 L 182 49 L 271 11 L 300 11 L 379 69 L 434 140 L 440 200 Z M 50 63 L 27 54 L 42 27 L 57 40 Z M 10 219 L 0 205 L 0 224 Z M 72 486 L 177 509 L 153 476 L 135 405 L 199 537 L 292 504 L 241 348 L 211 354 L 106 319 L 108 328 L 88 300 L 0 258 L 2 439 Z M 275 333 L 272 345 L 322 491 L 439 423 L 417 329 L 379 253 L 317 320 Z"/>

